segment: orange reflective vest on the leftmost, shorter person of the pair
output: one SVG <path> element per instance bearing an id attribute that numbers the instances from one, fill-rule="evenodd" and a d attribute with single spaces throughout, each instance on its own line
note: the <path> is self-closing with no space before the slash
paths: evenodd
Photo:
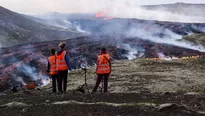
<path id="1" fill-rule="evenodd" d="M 48 58 L 48 62 L 50 63 L 50 74 L 54 75 L 56 74 L 56 57 L 55 56 L 50 56 Z"/>

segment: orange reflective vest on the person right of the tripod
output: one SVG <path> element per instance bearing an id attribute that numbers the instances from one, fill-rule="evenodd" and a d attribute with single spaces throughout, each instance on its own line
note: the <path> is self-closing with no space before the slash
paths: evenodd
<path id="1" fill-rule="evenodd" d="M 98 56 L 97 62 L 97 74 L 107 74 L 110 73 L 110 57 L 108 54 L 102 54 Z"/>

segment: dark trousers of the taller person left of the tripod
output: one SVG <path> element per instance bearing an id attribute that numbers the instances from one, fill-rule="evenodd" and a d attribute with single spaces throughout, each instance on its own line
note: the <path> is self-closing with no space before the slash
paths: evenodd
<path id="1" fill-rule="evenodd" d="M 68 70 L 58 71 L 58 91 L 66 92 L 67 89 Z M 62 90 L 63 87 L 63 90 Z"/>

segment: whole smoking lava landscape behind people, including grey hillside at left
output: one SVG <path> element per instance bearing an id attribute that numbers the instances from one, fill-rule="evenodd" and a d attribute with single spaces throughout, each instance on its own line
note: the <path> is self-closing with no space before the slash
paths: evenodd
<path id="1" fill-rule="evenodd" d="M 107 47 L 114 60 L 181 58 L 204 55 L 205 51 L 203 44 L 183 38 L 203 34 L 203 23 L 105 20 L 105 14 L 50 13 L 32 17 L 3 7 L 0 11 L 1 91 L 15 85 L 22 87 L 31 81 L 47 84 L 45 71 L 49 50 L 58 49 L 62 40 L 67 43 L 66 50 L 74 69 L 85 62 L 94 66 L 101 47 Z"/>

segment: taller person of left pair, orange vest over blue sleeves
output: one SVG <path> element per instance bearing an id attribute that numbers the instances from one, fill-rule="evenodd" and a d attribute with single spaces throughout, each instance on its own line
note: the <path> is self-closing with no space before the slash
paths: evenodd
<path id="1" fill-rule="evenodd" d="M 65 50 L 65 42 L 61 42 L 59 44 L 59 50 L 56 52 L 56 70 L 58 72 L 58 89 L 60 93 L 66 93 L 68 69 L 70 71 L 72 70 L 68 53 Z"/>

